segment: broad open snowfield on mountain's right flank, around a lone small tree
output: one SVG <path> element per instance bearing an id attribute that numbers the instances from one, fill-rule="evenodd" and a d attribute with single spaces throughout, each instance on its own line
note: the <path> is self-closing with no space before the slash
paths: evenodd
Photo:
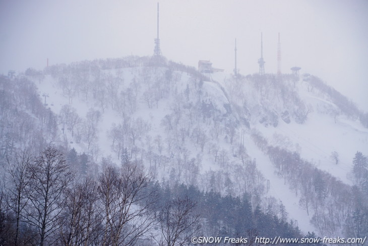
<path id="1" fill-rule="evenodd" d="M 316 108 L 329 105 L 336 107 L 329 101 L 314 96 L 311 92 L 301 92 L 303 99 L 313 104 L 314 110 L 308 115 L 304 124 L 291 122 L 286 124 L 282 120 L 274 127 L 260 125 L 258 130 L 269 140 L 274 134 L 287 136 L 299 151 L 300 156 L 314 163 L 319 169 L 331 173 L 341 181 L 351 184 L 349 172 L 352 168 L 352 159 L 357 151 L 365 153 L 368 150 L 368 129 L 357 120 L 347 119 L 344 115 L 334 117 L 321 113 Z M 292 150 L 292 148 L 291 148 Z M 332 152 L 337 152 L 339 162 L 336 165 L 331 158 Z"/>

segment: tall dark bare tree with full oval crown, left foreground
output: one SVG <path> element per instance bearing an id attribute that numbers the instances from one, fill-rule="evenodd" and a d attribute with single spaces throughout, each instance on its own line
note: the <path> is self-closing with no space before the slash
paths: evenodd
<path id="1" fill-rule="evenodd" d="M 64 154 L 54 147 L 47 147 L 29 165 L 29 206 L 25 207 L 25 222 L 37 228 L 40 246 L 59 228 L 59 215 L 65 207 L 64 191 L 73 180 Z"/>

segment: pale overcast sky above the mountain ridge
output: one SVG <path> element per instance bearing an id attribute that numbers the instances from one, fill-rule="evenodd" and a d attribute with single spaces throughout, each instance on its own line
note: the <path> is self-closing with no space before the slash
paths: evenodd
<path id="1" fill-rule="evenodd" d="M 258 72 L 260 33 L 266 73 L 301 67 L 368 111 L 368 1 L 161 0 L 163 55 L 196 66 Z M 0 0 L 0 74 L 49 64 L 153 54 L 157 1 Z"/>

